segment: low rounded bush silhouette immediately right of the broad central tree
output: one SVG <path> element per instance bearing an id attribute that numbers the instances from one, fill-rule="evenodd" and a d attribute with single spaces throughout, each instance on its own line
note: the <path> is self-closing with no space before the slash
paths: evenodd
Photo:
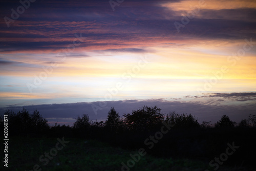
<path id="1" fill-rule="evenodd" d="M 197 119 L 191 114 L 177 114 L 175 112 L 169 113 L 166 116 L 166 122 L 174 124 L 174 127 L 188 128 L 188 127 L 199 127 Z"/>

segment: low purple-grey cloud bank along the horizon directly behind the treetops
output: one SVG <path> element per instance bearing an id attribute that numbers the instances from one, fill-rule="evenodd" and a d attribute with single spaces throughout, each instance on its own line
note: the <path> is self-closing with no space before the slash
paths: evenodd
<path id="1" fill-rule="evenodd" d="M 106 104 L 104 108 L 100 108 Z M 122 116 L 124 113 L 131 113 L 133 110 L 140 109 L 143 105 L 155 106 L 162 109 L 162 113 L 169 112 L 192 114 L 198 118 L 199 122 L 212 121 L 217 122 L 221 116 L 226 114 L 231 120 L 239 122 L 241 119 L 247 119 L 249 114 L 256 113 L 256 103 L 248 103 L 241 105 L 224 105 L 215 102 L 205 103 L 200 101 L 167 101 L 164 99 L 148 99 L 148 100 L 120 100 L 105 102 L 80 102 L 65 104 L 41 104 L 27 105 L 24 108 L 31 113 L 37 109 L 43 117 L 49 118 L 49 122 L 69 122 L 73 124 L 74 119 L 79 115 L 88 114 L 91 120 L 105 120 L 108 111 L 112 106 Z M 94 112 L 94 110 L 97 113 Z M 11 109 L 15 112 L 22 110 L 20 106 L 10 106 L 9 108 L 1 108 L 0 113 Z M 99 110 L 97 110 L 99 109 Z M 68 118 L 68 119 L 67 119 Z"/>

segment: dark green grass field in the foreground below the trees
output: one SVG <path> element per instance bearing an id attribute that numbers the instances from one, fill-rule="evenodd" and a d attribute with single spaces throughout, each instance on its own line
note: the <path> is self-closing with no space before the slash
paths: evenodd
<path id="1" fill-rule="evenodd" d="M 59 137 L 62 139 L 62 137 Z M 57 151 L 56 156 L 46 161 L 39 161 L 39 157 L 55 147 L 57 138 L 24 138 L 12 137 L 8 146 L 7 170 L 121 170 L 122 162 L 131 161 L 131 151 L 119 147 L 112 147 L 95 140 L 65 138 L 69 141 L 65 147 Z M 61 145 L 59 145 L 61 146 Z M 146 151 L 149 149 L 146 149 Z M 44 157 L 45 158 L 45 157 Z M 38 164 L 40 167 L 33 169 Z M 44 165 L 46 164 L 46 165 Z M 146 154 L 129 169 L 123 170 L 205 170 L 212 168 L 206 162 L 188 159 L 157 158 Z M 228 167 L 218 170 L 231 170 Z"/>

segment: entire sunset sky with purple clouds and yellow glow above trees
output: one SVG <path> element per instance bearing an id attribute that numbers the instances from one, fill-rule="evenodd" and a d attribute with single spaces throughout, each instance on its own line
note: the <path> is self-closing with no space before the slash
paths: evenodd
<path id="1" fill-rule="evenodd" d="M 254 0 L 2 0 L 0 112 L 256 114 Z"/>

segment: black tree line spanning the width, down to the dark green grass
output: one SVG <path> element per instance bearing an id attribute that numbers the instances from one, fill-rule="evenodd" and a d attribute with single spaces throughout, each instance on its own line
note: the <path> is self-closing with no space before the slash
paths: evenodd
<path id="1" fill-rule="evenodd" d="M 170 112 L 161 113 L 157 106 L 142 106 L 138 110 L 122 116 L 112 107 L 105 121 L 92 121 L 88 114 L 77 116 L 73 126 L 55 123 L 50 126 L 47 119 L 42 117 L 37 110 L 32 114 L 23 109 L 17 113 L 11 110 L 8 115 L 8 136 L 24 138 L 63 137 L 93 139 L 106 142 L 114 147 L 129 149 L 147 148 L 145 140 L 161 131 L 163 124 L 174 125 L 167 134 L 159 139 L 148 154 L 159 157 L 182 158 L 209 158 L 223 153 L 227 143 L 236 142 L 241 149 L 232 155 L 232 160 L 225 163 L 237 164 L 244 159 L 243 165 L 253 163 L 256 152 L 256 116 L 249 115 L 239 123 L 233 122 L 227 115 L 220 120 L 211 122 L 198 122 L 191 114 L 178 114 Z M 0 118 L 3 120 L 3 118 Z M 163 123 L 165 122 L 165 123 Z M 3 122 L 0 122 L 1 126 Z M 241 164 L 241 163 L 239 163 Z"/>

